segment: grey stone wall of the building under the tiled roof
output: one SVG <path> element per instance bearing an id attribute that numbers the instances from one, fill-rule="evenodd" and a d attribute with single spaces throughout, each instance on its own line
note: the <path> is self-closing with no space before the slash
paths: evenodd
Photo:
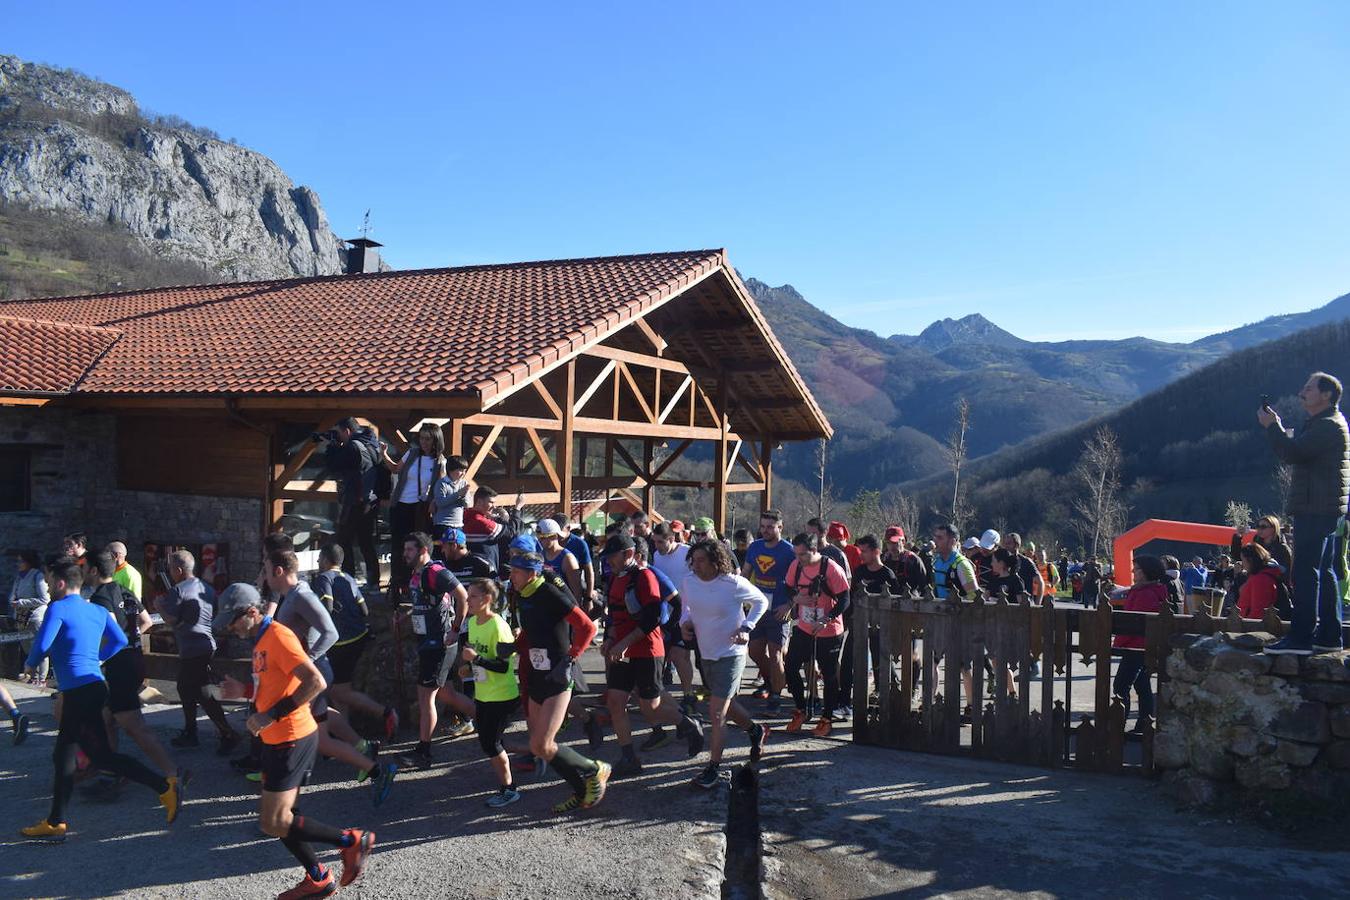
<path id="1" fill-rule="evenodd" d="M 192 426 L 190 420 L 184 428 Z M 231 578 L 252 580 L 262 555 L 262 499 L 196 497 L 117 487 L 116 417 L 69 409 L 0 409 L 0 444 L 39 449 L 32 459 L 32 510 L 0 513 L 0 549 L 61 551 L 61 538 L 85 532 L 99 549 L 123 541 L 132 564 L 157 542 L 230 542 Z M 0 560 L 8 590 L 14 560 Z"/>

